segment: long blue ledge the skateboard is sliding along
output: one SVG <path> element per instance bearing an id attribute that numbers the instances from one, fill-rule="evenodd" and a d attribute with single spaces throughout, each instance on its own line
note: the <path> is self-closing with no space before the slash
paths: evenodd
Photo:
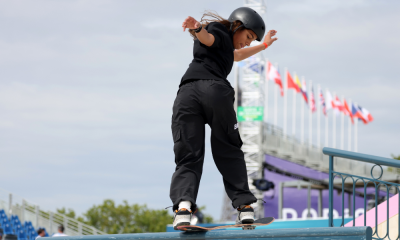
<path id="1" fill-rule="evenodd" d="M 57 237 L 57 240 L 133 240 L 133 239 L 310 239 L 310 240 L 371 240 L 370 227 L 296 228 L 262 230 L 215 230 L 209 232 L 136 233 L 94 236 Z"/>

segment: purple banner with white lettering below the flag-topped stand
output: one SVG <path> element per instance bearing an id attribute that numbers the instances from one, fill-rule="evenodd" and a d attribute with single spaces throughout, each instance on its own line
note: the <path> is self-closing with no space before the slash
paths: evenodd
<path id="1" fill-rule="evenodd" d="M 328 180 L 328 174 L 320 172 L 287 160 L 283 160 L 274 156 L 266 155 L 266 163 L 279 168 L 280 170 L 298 174 L 304 177 L 309 177 L 316 180 Z M 275 189 L 264 192 L 264 204 L 265 216 L 278 218 L 278 202 L 279 202 L 279 183 L 286 181 L 299 180 L 293 177 L 283 176 L 276 172 L 265 170 L 265 179 L 275 184 Z M 363 192 L 363 190 L 359 190 Z M 368 193 L 373 192 L 374 189 L 368 189 Z M 282 219 L 305 219 L 307 218 L 307 188 L 298 189 L 297 187 L 284 187 L 283 188 L 283 208 L 282 208 Z M 319 190 L 311 190 L 311 218 L 318 218 L 318 195 Z M 334 190 L 333 196 L 334 217 L 342 216 L 342 194 Z M 351 199 L 353 196 L 351 195 Z M 355 198 L 355 216 L 359 216 L 364 213 L 364 198 L 356 196 Z M 352 206 L 352 204 L 351 204 Z M 349 217 L 348 207 L 348 194 L 344 196 L 344 216 Z M 329 213 L 329 191 L 322 190 L 322 217 L 328 218 Z"/>

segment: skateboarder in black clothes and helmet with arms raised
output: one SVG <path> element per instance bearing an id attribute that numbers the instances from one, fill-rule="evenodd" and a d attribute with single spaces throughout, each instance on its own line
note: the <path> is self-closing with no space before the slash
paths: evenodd
<path id="1" fill-rule="evenodd" d="M 204 19 L 208 17 L 208 19 Z M 242 61 L 277 40 L 270 30 L 261 41 L 265 24 L 251 8 L 241 7 L 226 20 L 206 12 L 201 23 L 187 17 L 183 31 L 194 38 L 193 61 L 181 79 L 173 106 L 172 136 L 176 169 L 172 176 L 170 198 L 175 212 L 173 226 L 190 225 L 204 161 L 205 124 L 211 128 L 211 147 L 215 164 L 222 174 L 225 191 L 238 210 L 236 223 L 253 223 L 257 201 L 249 190 L 236 113 L 234 89 L 226 79 L 233 61 Z"/>

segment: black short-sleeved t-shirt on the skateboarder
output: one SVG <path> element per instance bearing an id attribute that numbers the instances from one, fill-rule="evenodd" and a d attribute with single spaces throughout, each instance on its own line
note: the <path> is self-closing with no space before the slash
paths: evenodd
<path id="1" fill-rule="evenodd" d="M 183 75 L 182 86 L 188 81 L 200 79 L 214 79 L 225 81 L 233 65 L 233 34 L 222 23 L 212 22 L 205 29 L 211 33 L 215 41 L 207 47 L 199 40 L 194 41 L 193 61 Z"/>

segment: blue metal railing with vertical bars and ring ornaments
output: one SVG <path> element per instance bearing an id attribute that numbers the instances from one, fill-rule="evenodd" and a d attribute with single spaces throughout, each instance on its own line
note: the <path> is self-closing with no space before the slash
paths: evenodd
<path id="1" fill-rule="evenodd" d="M 343 151 L 343 150 L 338 150 L 338 149 L 333 149 L 333 148 L 324 148 L 323 153 L 325 155 L 329 155 L 329 226 L 334 227 L 333 225 L 333 189 L 334 189 L 334 179 L 335 178 L 341 178 L 342 179 L 342 224 L 341 226 L 344 225 L 344 191 L 345 191 L 345 181 L 347 179 L 350 179 L 352 181 L 352 216 L 353 216 L 353 226 L 356 224 L 356 216 L 355 216 L 355 197 L 356 197 L 356 186 L 359 186 L 359 188 L 363 188 L 363 197 L 364 197 L 364 226 L 367 226 L 367 198 L 371 194 L 367 194 L 367 188 L 373 187 L 374 188 L 374 194 L 372 194 L 375 198 L 375 219 L 374 219 L 374 230 L 373 230 L 373 239 L 392 239 L 390 236 L 393 237 L 393 234 L 389 234 L 389 198 L 391 195 L 390 191 L 394 190 L 395 193 L 400 192 L 400 184 L 393 183 L 393 182 L 387 182 L 383 181 L 381 178 L 383 176 L 383 168 L 382 166 L 389 166 L 389 167 L 395 167 L 395 168 L 400 168 L 400 161 L 395 160 L 395 159 L 390 159 L 390 158 L 383 158 L 383 157 L 377 157 L 377 156 L 372 156 L 372 155 L 367 155 L 367 154 L 361 154 L 361 153 L 355 153 L 355 152 L 349 152 L 349 151 Z M 349 173 L 341 173 L 341 172 L 336 172 L 334 171 L 334 158 L 335 157 L 340 157 L 340 158 L 346 158 L 350 160 L 356 160 L 356 161 L 361 161 L 361 162 L 366 162 L 366 163 L 372 163 L 374 164 L 371 167 L 371 177 L 363 177 L 363 176 L 356 176 L 352 175 Z M 378 177 L 374 177 L 373 172 L 374 168 L 379 167 L 380 169 L 380 174 L 378 174 Z M 359 185 L 357 185 L 359 183 Z M 385 195 L 386 195 L 386 234 L 385 236 L 379 236 L 378 234 L 378 195 L 381 192 L 381 188 L 385 190 Z M 357 187 L 358 188 L 358 187 Z M 349 188 L 347 187 L 346 190 Z M 360 194 L 358 194 L 360 196 Z M 350 205 L 349 205 L 350 207 Z M 400 198 L 398 201 L 398 210 L 400 211 Z M 400 239 L 399 236 L 399 230 L 400 230 L 400 214 L 398 213 L 398 222 L 399 225 L 397 226 L 397 237 L 394 239 Z M 390 236 L 389 236 L 390 235 Z"/>

